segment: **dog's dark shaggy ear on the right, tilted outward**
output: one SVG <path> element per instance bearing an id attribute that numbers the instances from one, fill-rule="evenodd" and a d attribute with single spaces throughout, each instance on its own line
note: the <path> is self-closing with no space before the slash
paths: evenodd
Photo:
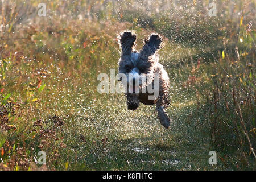
<path id="1" fill-rule="evenodd" d="M 142 52 L 144 55 L 152 56 L 154 53 L 163 47 L 162 36 L 158 34 L 151 34 L 148 38 L 144 39 L 144 46 Z"/>

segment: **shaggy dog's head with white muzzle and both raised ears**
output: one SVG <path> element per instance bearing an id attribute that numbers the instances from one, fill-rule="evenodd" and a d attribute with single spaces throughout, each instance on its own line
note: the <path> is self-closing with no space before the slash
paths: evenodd
<path id="1" fill-rule="evenodd" d="M 125 74 L 122 84 L 127 86 L 129 93 L 138 93 L 141 88 L 151 84 L 154 80 L 155 65 L 159 60 L 158 49 L 163 47 L 162 37 L 151 34 L 144 39 L 141 51 L 135 50 L 134 32 L 125 31 L 119 36 L 119 44 L 122 49 L 119 60 L 119 74 Z"/>

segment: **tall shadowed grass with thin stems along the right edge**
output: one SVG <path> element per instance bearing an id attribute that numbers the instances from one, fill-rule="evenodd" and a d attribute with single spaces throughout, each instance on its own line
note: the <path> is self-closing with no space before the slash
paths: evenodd
<path id="1" fill-rule="evenodd" d="M 224 49 L 214 57 L 213 90 L 207 106 L 213 148 L 237 152 L 242 165 L 253 169 L 255 162 L 255 44 L 252 22 L 243 24 L 243 7 L 237 35 L 223 39 Z M 230 45 L 231 44 L 231 45 Z M 228 53 L 232 47 L 232 54 Z M 223 159 L 224 160 L 224 159 Z M 240 166 L 237 166 L 240 168 Z"/>

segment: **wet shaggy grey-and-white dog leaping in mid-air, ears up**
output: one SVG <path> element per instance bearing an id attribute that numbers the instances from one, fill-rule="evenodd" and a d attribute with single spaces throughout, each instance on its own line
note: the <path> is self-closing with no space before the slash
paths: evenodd
<path id="1" fill-rule="evenodd" d="M 170 80 L 163 65 L 159 63 L 158 56 L 158 50 L 163 47 L 163 39 L 158 34 L 151 34 L 144 39 L 144 46 L 139 52 L 135 50 L 136 39 L 137 35 L 131 31 L 124 31 L 118 35 L 121 48 L 118 74 L 126 77 L 126 79 L 120 78 L 120 81 L 126 88 L 128 109 L 136 110 L 140 102 L 144 105 L 155 104 L 160 123 L 168 129 L 171 120 L 164 112 L 164 108 L 170 104 L 168 99 Z M 146 78 L 146 82 L 142 81 L 142 78 Z M 148 91 L 152 88 L 154 93 Z M 154 97 L 156 92 L 158 92 L 157 97 Z"/>

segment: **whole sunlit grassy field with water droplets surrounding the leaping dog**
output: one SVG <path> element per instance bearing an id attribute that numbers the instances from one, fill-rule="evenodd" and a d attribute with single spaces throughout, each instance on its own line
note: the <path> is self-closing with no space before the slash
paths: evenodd
<path id="1" fill-rule="evenodd" d="M 0 3 L 0 170 L 256 169 L 255 2 L 214 1 L 212 17 L 207 0 L 40 2 Z M 97 92 L 124 30 L 138 47 L 164 36 L 168 130 L 154 106 Z"/>

